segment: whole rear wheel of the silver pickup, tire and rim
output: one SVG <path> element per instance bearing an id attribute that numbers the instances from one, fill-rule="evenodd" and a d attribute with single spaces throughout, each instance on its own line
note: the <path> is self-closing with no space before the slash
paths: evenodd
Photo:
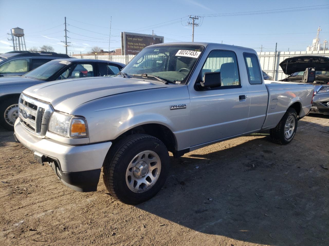
<path id="1" fill-rule="evenodd" d="M 284 145 L 291 142 L 297 130 L 297 117 L 294 109 L 289 108 L 287 110 L 277 126 L 270 130 L 270 136 L 274 143 Z"/>

